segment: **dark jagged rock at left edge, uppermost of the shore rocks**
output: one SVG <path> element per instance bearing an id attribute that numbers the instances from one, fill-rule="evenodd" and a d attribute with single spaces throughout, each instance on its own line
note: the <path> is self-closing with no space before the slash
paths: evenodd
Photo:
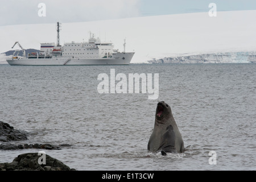
<path id="1" fill-rule="evenodd" d="M 15 130 L 8 123 L 0 121 L 0 142 L 26 140 L 27 136 L 26 131 Z"/>

